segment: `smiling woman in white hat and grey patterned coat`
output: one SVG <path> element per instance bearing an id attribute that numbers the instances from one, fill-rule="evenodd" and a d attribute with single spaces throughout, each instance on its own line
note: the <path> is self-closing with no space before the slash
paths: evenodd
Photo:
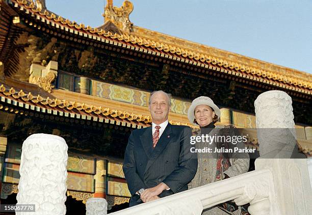
<path id="1" fill-rule="evenodd" d="M 237 130 L 232 125 L 214 125 L 215 122 L 219 120 L 220 116 L 221 111 L 218 106 L 215 105 L 212 99 L 204 96 L 194 99 L 188 110 L 190 122 L 200 127 L 197 136 L 215 136 L 215 139 L 208 138 L 195 143 L 196 149 L 211 148 L 211 152 L 197 151 L 197 172 L 193 180 L 189 183 L 189 189 L 207 185 L 207 183 L 223 180 L 248 171 L 248 153 L 225 152 L 220 150 L 215 152 L 216 148 L 244 147 L 242 142 L 233 145 L 225 142 L 222 138 L 217 141 L 217 137 L 233 136 L 237 134 Z M 231 212 L 228 213 L 225 211 Z M 205 209 L 202 214 L 241 214 L 241 210 L 238 209 L 235 203 L 226 202 L 222 205 Z M 248 212 L 244 214 L 248 214 Z"/>

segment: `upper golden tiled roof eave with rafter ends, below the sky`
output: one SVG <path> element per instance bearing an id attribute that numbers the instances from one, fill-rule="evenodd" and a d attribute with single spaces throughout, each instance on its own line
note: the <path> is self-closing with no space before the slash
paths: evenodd
<path id="1" fill-rule="evenodd" d="M 112 34 L 102 29 L 98 30 L 98 28 L 92 28 L 90 26 L 85 27 L 84 24 L 77 24 L 74 21 L 69 21 L 68 19 L 64 19 L 46 10 L 42 11 L 28 0 L 12 0 L 11 2 L 15 8 L 19 9 L 20 13 L 29 14 L 33 19 L 44 22 L 52 28 L 64 30 L 73 36 L 82 36 L 86 39 L 94 40 L 96 41 L 94 42 L 94 46 L 98 45 L 96 43 L 111 44 L 176 60 L 185 64 L 295 90 L 304 94 L 312 94 L 312 82 L 310 81 L 312 80 L 312 75 L 305 72 L 273 65 L 262 62 L 261 60 L 177 39 L 161 33 L 156 34 L 161 35 L 162 40 L 159 39 L 160 37 L 144 37 L 144 34 L 140 36 L 140 30 L 145 33 L 148 31 L 151 33 L 152 31 L 139 27 L 134 27 L 134 29 L 137 29 L 137 33 L 128 34 L 123 32 L 120 35 Z M 33 25 L 31 21 L 25 20 L 25 22 L 29 25 Z M 42 28 L 38 28 L 42 30 Z M 184 44 L 184 46 L 179 47 L 177 45 L 179 42 L 170 43 L 170 40 L 183 41 L 182 44 Z M 193 50 L 196 49 L 196 47 L 201 48 Z M 234 60 L 229 60 L 229 57 L 234 58 Z"/>

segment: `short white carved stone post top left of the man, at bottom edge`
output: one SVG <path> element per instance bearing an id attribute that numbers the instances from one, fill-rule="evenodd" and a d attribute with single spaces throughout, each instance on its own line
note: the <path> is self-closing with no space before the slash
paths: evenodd
<path id="1" fill-rule="evenodd" d="M 107 201 L 103 198 L 90 198 L 86 202 L 86 215 L 107 214 Z"/>

